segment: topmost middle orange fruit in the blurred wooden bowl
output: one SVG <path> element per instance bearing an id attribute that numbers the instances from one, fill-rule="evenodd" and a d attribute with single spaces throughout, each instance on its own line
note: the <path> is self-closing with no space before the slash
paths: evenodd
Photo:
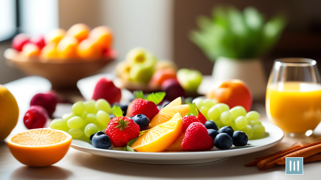
<path id="1" fill-rule="evenodd" d="M 66 33 L 66 36 L 74 37 L 81 42 L 88 37 L 90 28 L 83 23 L 78 23 L 70 27 Z"/>

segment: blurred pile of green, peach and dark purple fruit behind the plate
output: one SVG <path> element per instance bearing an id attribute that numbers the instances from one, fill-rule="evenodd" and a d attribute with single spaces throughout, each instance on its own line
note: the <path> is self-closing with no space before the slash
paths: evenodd
<path id="1" fill-rule="evenodd" d="M 171 61 L 158 61 L 145 48 L 130 50 L 125 60 L 116 67 L 116 74 L 123 86 L 129 90 L 143 89 L 145 92 L 164 91 L 166 100 L 172 101 L 185 94 L 196 94 L 202 82 L 198 70 L 180 69 Z"/>

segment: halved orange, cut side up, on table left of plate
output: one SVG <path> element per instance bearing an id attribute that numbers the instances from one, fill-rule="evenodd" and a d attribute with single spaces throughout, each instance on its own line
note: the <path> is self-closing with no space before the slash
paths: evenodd
<path id="1" fill-rule="evenodd" d="M 31 129 L 8 138 L 12 155 L 22 164 L 44 167 L 61 160 L 69 150 L 71 135 L 55 129 Z"/>

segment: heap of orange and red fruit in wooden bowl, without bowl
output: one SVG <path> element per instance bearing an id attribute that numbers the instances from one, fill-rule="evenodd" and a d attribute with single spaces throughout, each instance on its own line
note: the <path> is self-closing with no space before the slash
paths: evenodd
<path id="1" fill-rule="evenodd" d="M 86 24 L 75 24 L 67 31 L 53 29 L 46 36 L 30 38 L 18 34 L 13 38 L 15 54 L 26 61 L 95 61 L 114 59 L 113 32 L 107 26 L 92 30 Z M 39 57 L 39 58 L 38 58 Z"/>

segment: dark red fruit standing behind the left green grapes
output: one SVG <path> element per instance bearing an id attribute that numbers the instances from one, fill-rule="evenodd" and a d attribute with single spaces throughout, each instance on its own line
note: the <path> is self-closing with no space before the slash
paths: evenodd
<path id="1" fill-rule="evenodd" d="M 118 87 L 116 87 L 113 81 L 110 81 L 106 78 L 101 78 L 94 89 L 94 94 L 92 95 L 92 99 L 106 99 L 109 104 L 114 104 L 115 102 L 119 102 L 121 98 L 121 91 Z"/>

